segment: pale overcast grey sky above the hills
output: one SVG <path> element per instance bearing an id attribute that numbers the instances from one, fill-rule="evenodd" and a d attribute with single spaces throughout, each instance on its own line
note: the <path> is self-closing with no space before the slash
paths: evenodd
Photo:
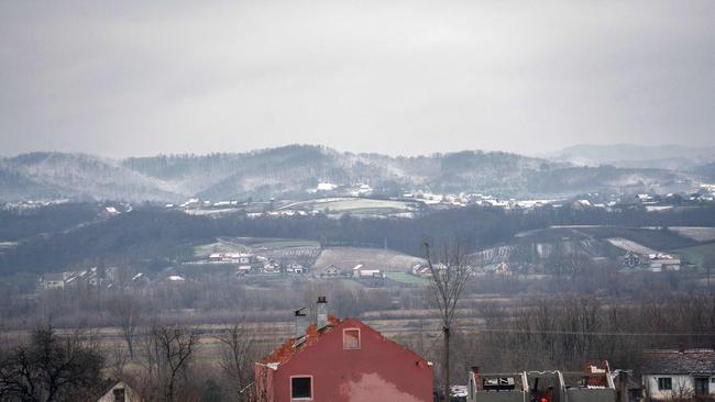
<path id="1" fill-rule="evenodd" d="M 0 2 L 0 155 L 715 145 L 715 1 Z"/>

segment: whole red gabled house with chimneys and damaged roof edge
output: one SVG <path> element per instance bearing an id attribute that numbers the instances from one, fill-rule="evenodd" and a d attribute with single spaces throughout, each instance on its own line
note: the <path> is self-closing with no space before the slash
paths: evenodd
<path id="1" fill-rule="evenodd" d="M 296 311 L 296 337 L 254 366 L 263 402 L 431 402 L 432 365 L 360 320 Z M 302 335 L 301 335 L 302 334 Z"/>

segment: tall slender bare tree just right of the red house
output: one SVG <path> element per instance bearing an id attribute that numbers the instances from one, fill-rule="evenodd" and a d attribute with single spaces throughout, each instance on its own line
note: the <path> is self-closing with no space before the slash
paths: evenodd
<path id="1" fill-rule="evenodd" d="M 425 242 L 425 254 L 431 273 L 432 297 L 439 308 L 442 321 L 444 357 L 442 361 L 444 400 L 450 398 L 450 336 L 457 312 L 457 304 L 462 297 L 464 283 L 470 277 L 466 255 L 459 244 L 443 245 L 438 255 L 430 253 L 430 245 Z"/>

